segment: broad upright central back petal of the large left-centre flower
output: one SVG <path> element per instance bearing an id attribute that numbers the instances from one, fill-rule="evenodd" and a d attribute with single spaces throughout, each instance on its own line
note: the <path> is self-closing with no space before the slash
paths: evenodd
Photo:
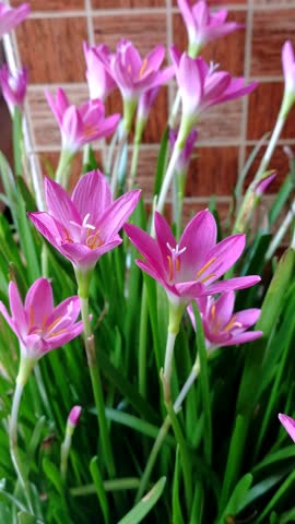
<path id="1" fill-rule="evenodd" d="M 90 213 L 88 222 L 97 224 L 98 217 L 111 204 L 111 192 L 106 177 L 98 169 L 83 175 L 74 188 L 72 203 L 82 219 Z"/>

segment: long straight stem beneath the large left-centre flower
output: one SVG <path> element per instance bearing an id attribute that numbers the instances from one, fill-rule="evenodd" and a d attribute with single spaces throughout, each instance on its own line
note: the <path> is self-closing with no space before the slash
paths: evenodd
<path id="1" fill-rule="evenodd" d="M 81 315 L 82 315 L 82 321 L 84 325 L 85 349 L 87 355 L 87 364 L 90 368 L 95 407 L 97 412 L 98 431 L 102 438 L 103 455 L 106 462 L 106 467 L 107 467 L 109 477 L 115 477 L 116 468 L 115 468 L 113 450 L 111 450 L 111 444 L 110 444 L 109 434 L 108 434 L 102 380 L 101 380 L 99 368 L 96 359 L 94 335 L 92 333 L 92 327 L 90 323 L 88 297 L 87 296 L 85 297 L 83 295 L 81 296 L 80 293 L 79 293 L 79 296 L 80 296 L 80 302 L 81 302 Z"/>

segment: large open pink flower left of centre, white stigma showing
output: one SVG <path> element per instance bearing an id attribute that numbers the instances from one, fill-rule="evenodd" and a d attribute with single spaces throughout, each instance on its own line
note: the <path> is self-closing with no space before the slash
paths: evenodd
<path id="1" fill-rule="evenodd" d="M 113 202 L 109 184 L 98 170 L 87 172 L 70 198 L 46 178 L 48 213 L 28 213 L 42 235 L 75 267 L 87 271 L 110 249 L 121 243 L 119 229 L 134 210 L 140 191 L 129 191 Z"/>

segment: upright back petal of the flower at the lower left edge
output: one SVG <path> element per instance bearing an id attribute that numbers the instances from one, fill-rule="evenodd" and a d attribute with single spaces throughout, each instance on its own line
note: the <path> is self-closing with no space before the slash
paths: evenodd
<path id="1" fill-rule="evenodd" d="M 38 278 L 28 289 L 25 297 L 25 311 L 28 329 L 45 325 L 54 309 L 51 285 L 47 278 Z"/>

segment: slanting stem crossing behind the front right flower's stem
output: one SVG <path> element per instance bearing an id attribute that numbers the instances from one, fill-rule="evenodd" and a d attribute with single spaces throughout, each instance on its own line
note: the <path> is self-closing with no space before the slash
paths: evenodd
<path id="1" fill-rule="evenodd" d="M 177 414 L 181 409 L 182 402 L 185 401 L 190 388 L 192 386 L 194 380 L 197 379 L 197 377 L 199 374 L 199 371 L 200 371 L 200 366 L 199 366 L 199 360 L 197 360 L 194 366 L 192 367 L 192 370 L 191 370 L 187 381 L 185 382 L 178 397 L 176 398 L 176 401 L 174 403 L 173 409 L 175 412 L 175 416 L 177 416 Z M 169 431 L 170 425 L 172 425 L 172 419 L 170 419 L 170 416 L 167 415 L 163 425 L 161 426 L 161 428 L 158 430 L 158 433 L 157 433 L 156 440 L 154 442 L 154 445 L 152 448 L 152 451 L 150 453 L 145 469 L 144 469 L 143 475 L 141 477 L 140 487 L 139 487 L 139 490 L 138 490 L 138 493 L 137 493 L 137 502 L 142 498 L 143 493 L 146 491 L 148 484 L 149 484 L 153 467 L 155 465 L 158 452 L 160 452 L 163 443 L 165 442 L 165 439 L 166 439 L 167 433 Z"/>

